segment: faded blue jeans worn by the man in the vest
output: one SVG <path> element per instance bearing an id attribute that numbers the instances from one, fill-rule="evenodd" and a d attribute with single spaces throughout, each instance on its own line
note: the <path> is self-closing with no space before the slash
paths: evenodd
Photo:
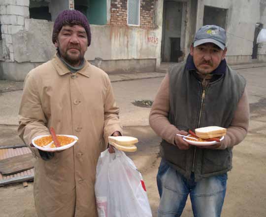
<path id="1" fill-rule="evenodd" d="M 194 217 L 220 217 L 226 193 L 227 173 L 195 182 L 184 178 L 162 159 L 157 174 L 160 194 L 158 217 L 180 217 L 190 194 Z"/>

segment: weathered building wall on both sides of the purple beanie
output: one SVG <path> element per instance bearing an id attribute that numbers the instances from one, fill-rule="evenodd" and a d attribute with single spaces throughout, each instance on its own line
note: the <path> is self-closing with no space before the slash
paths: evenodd
<path id="1" fill-rule="evenodd" d="M 6 79 L 23 80 L 31 69 L 51 59 L 56 49 L 51 38 L 54 23 L 29 19 L 29 0 L 25 0 L 25 5 L 21 5 L 21 10 L 27 13 L 23 15 L 5 15 L 3 13 L 5 10 L 2 8 L 9 8 L 10 3 L 16 4 L 17 1 L 4 0 L 4 5 L 2 5 L 2 1 L 0 2 L 2 36 L 5 39 L 2 41 L 4 61 L 0 59 L 0 76 Z M 109 2 L 110 4 L 114 3 L 112 0 Z M 149 4 L 145 3 L 142 4 L 142 7 L 142 11 L 146 15 L 144 12 L 141 15 L 151 16 L 151 14 L 148 15 L 151 13 L 150 11 L 156 10 L 155 13 L 159 16 L 147 19 L 149 22 L 142 22 L 140 27 L 120 25 L 114 21 L 112 25 L 91 25 L 92 43 L 85 58 L 92 63 L 97 63 L 99 67 L 110 73 L 155 71 L 160 64 L 162 35 L 160 14 L 162 14 L 163 0 L 156 0 L 156 3 L 155 1 Z M 16 14 L 20 13 L 16 12 Z M 3 16 L 4 18 L 2 18 Z M 8 22 L 3 22 L 5 16 L 8 16 Z M 23 19 L 21 20 L 17 16 L 23 17 Z M 156 22 L 156 28 L 150 27 L 151 20 L 152 24 Z M 112 13 L 110 22 L 112 22 Z M 7 47 L 9 47 L 8 51 Z"/>

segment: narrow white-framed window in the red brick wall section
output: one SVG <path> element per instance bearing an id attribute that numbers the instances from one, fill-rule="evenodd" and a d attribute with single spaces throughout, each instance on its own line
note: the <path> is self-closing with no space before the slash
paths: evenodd
<path id="1" fill-rule="evenodd" d="M 128 0 L 128 25 L 139 26 L 140 0 Z"/>

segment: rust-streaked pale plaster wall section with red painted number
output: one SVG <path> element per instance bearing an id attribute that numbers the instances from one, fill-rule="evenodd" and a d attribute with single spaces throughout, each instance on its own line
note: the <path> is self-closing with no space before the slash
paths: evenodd
<path id="1" fill-rule="evenodd" d="M 160 51 L 160 30 L 96 25 L 91 25 L 91 30 L 92 43 L 85 55 L 88 60 L 156 59 Z"/>

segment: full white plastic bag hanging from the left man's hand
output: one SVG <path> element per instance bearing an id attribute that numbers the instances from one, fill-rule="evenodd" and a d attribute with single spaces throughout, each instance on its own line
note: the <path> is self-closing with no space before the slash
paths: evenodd
<path id="1" fill-rule="evenodd" d="M 99 217 L 152 217 L 142 176 L 123 151 L 101 152 L 95 195 Z"/>

